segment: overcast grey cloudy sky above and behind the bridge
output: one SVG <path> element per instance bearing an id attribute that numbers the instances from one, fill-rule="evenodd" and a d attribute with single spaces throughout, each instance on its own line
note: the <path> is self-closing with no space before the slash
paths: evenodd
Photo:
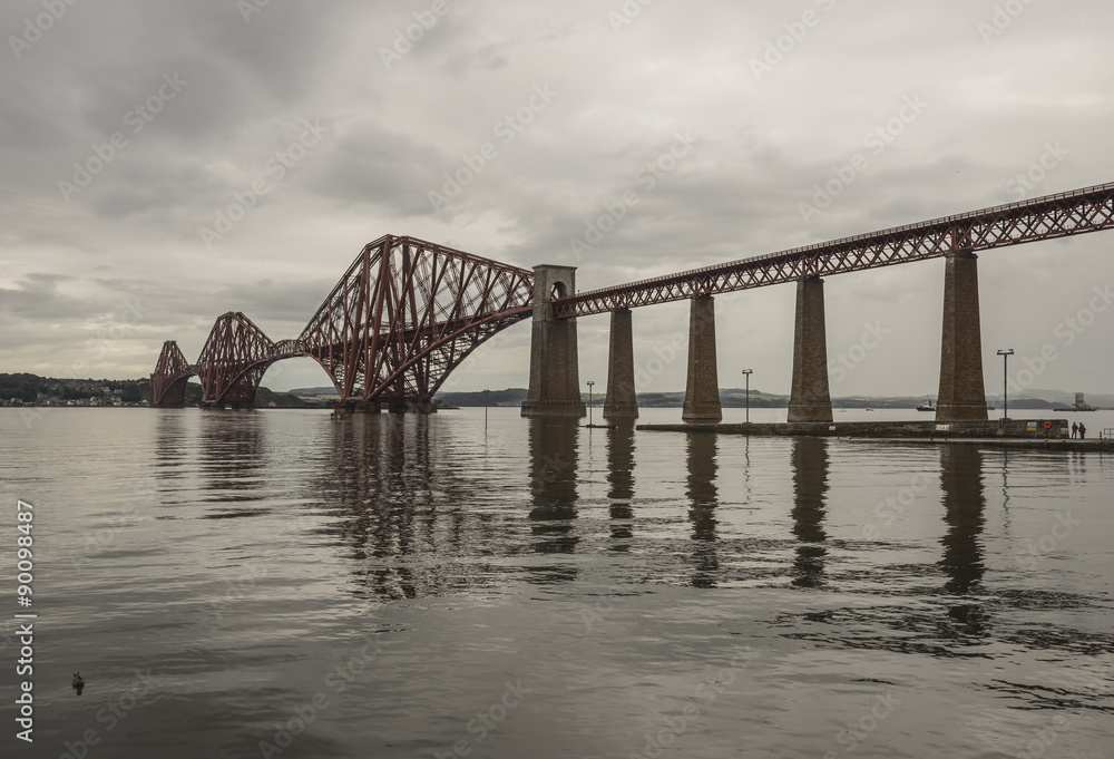
<path id="1" fill-rule="evenodd" d="M 144 377 L 226 311 L 294 338 L 384 234 L 584 291 L 1114 181 L 1112 28 L 1098 0 L 12 0 L 0 372 Z M 1114 392 L 1112 245 L 980 254 L 988 393 L 1007 348 L 1012 392 Z M 935 395 L 942 291 L 939 259 L 829 278 L 832 395 Z M 794 299 L 717 298 L 721 387 L 789 392 Z M 684 389 L 686 322 L 635 311 L 641 391 Z M 578 322 L 597 389 L 607 330 Z M 529 332 L 446 389 L 525 387 Z"/>

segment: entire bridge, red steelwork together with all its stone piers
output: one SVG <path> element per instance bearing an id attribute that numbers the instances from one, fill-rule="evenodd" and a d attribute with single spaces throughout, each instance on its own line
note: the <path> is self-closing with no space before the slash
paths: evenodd
<path id="1" fill-rule="evenodd" d="M 632 310 L 688 300 L 688 371 L 683 419 L 722 419 L 714 296 L 797 283 L 789 421 L 831 421 L 823 278 L 945 259 L 944 330 L 937 419 L 987 418 L 983 382 L 977 253 L 1114 228 L 1114 183 L 910 224 L 853 237 L 576 292 L 576 269 L 529 271 L 412 237 L 369 243 L 294 340 L 272 342 L 243 313 L 217 319 L 189 364 L 174 341 L 163 347 L 145 392 L 180 405 L 190 376 L 203 401 L 247 405 L 271 363 L 314 358 L 345 402 L 378 411 L 431 410 L 449 372 L 480 343 L 532 320 L 530 385 L 524 417 L 582 417 L 577 317 L 610 314 L 604 417 L 638 416 Z"/>

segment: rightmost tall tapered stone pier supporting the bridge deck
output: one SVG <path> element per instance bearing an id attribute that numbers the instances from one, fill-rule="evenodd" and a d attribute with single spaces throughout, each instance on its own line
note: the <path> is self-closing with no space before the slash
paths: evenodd
<path id="1" fill-rule="evenodd" d="M 987 413 L 978 311 L 978 256 L 960 251 L 949 253 L 946 261 L 936 418 L 941 421 L 983 420 Z"/>

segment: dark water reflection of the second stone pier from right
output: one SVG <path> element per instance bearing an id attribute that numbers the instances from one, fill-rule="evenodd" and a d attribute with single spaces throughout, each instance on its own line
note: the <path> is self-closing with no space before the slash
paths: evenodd
<path id="1" fill-rule="evenodd" d="M 792 584 L 797 587 L 820 587 L 824 583 L 824 499 L 828 494 L 828 439 L 793 438 L 790 454 L 793 468 L 793 535 L 797 557 L 793 561 Z"/>

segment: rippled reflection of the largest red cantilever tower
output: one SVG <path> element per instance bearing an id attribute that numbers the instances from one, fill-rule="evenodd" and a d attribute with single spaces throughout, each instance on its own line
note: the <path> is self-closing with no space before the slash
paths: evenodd
<path id="1" fill-rule="evenodd" d="M 324 529 L 348 548 L 358 592 L 422 599 L 497 583 L 491 557 L 514 549 L 514 526 L 482 508 L 457 440 L 423 415 L 355 415 L 333 422 L 316 498 L 335 520 Z"/>

